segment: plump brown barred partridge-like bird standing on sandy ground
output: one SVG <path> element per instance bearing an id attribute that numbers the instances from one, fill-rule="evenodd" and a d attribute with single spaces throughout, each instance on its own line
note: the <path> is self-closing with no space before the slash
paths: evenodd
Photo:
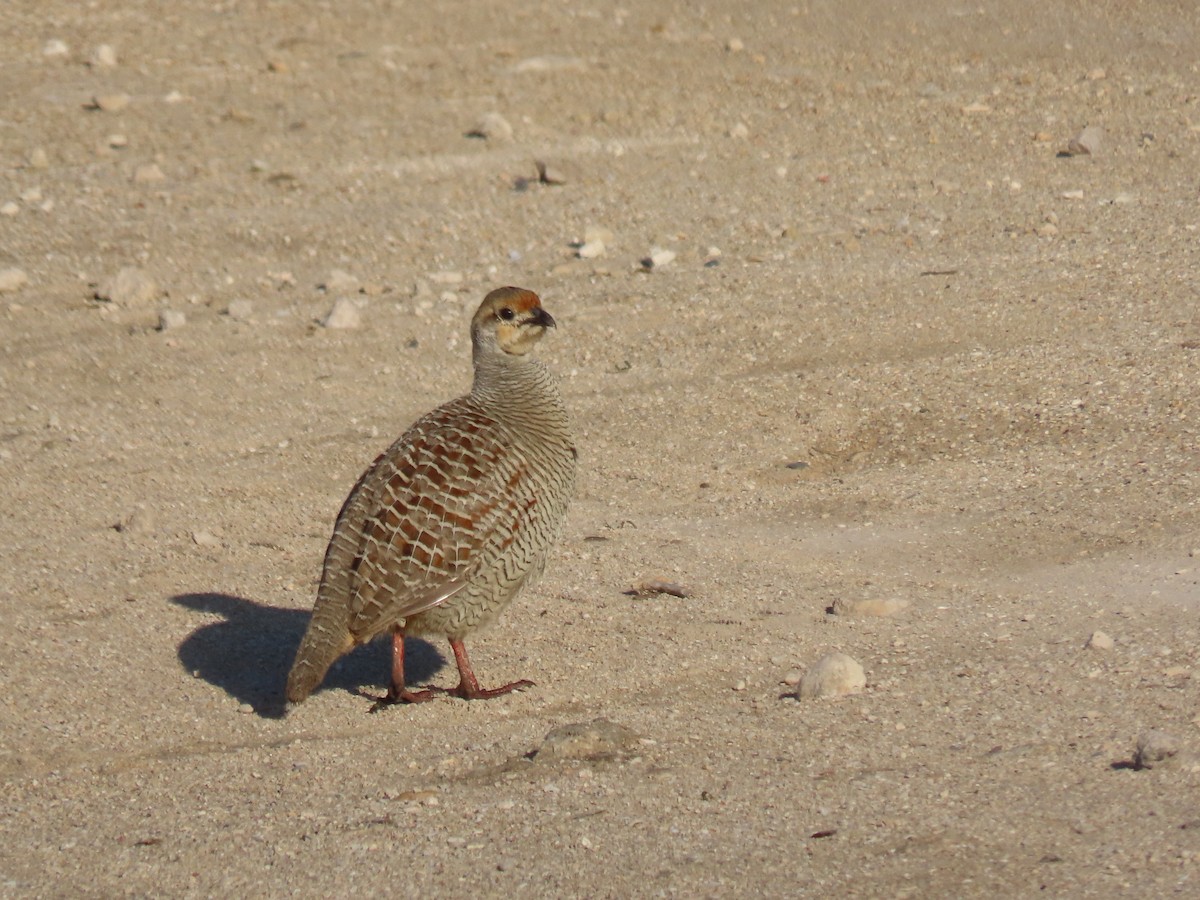
<path id="1" fill-rule="evenodd" d="M 481 700 L 468 635 L 535 581 L 562 536 L 578 452 L 554 377 L 530 352 L 556 323 L 502 287 L 470 323 L 470 392 L 418 419 L 359 478 L 325 551 L 312 618 L 288 673 L 300 703 L 352 648 L 391 635 L 391 683 L 372 712 L 439 695 Z M 409 688 L 404 636 L 450 641 L 458 684 Z"/>

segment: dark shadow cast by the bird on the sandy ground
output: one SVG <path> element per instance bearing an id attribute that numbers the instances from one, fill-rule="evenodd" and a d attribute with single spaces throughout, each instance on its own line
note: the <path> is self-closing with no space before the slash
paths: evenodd
<path id="1" fill-rule="evenodd" d="M 283 686 L 311 613 L 263 606 L 229 594 L 178 594 L 173 604 L 217 614 L 223 622 L 200 625 L 179 644 L 179 661 L 196 678 L 216 685 L 265 719 L 287 712 Z M 446 665 L 427 641 L 404 642 L 404 678 L 409 684 L 428 680 Z M 386 689 L 391 672 L 391 646 L 376 641 L 356 647 L 334 664 L 324 689 L 358 694 L 362 686 Z"/>

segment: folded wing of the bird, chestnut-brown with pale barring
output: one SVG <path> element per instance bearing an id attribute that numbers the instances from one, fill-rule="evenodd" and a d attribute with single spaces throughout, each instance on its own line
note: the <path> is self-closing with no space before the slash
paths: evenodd
<path id="1" fill-rule="evenodd" d="M 506 550 L 532 502 L 515 491 L 523 467 L 500 426 L 469 400 L 419 420 L 347 500 L 356 535 L 344 547 L 349 630 L 367 641 L 398 619 L 444 604 Z M 330 553 L 334 544 L 330 544 Z M 337 568 L 337 566 L 334 566 Z"/>

